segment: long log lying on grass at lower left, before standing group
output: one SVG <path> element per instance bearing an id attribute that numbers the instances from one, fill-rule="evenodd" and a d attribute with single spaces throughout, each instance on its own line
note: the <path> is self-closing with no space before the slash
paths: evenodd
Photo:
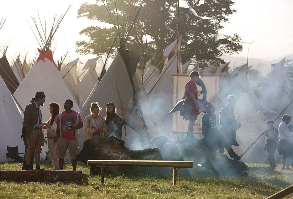
<path id="1" fill-rule="evenodd" d="M 87 175 L 81 171 L 35 169 L 26 171 L 1 171 L 1 181 L 11 182 L 75 182 L 88 185 Z"/>

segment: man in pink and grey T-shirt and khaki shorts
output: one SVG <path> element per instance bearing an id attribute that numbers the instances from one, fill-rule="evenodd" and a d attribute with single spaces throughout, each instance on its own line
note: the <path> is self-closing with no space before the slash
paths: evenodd
<path id="1" fill-rule="evenodd" d="M 63 170 L 64 158 L 68 149 L 71 157 L 73 171 L 76 171 L 76 156 L 78 150 L 78 129 L 83 127 L 83 121 L 78 112 L 72 110 L 73 102 L 66 99 L 64 102 L 64 109 L 56 120 L 57 124 L 57 156 L 59 159 L 59 169 Z"/>

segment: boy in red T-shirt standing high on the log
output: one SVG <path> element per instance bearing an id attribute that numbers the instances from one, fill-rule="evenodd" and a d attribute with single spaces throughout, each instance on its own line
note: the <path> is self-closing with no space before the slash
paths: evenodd
<path id="1" fill-rule="evenodd" d="M 197 120 L 199 105 L 197 103 L 198 93 L 196 82 L 200 78 L 199 73 L 194 70 L 189 74 L 190 80 L 185 85 L 185 100 L 180 110 L 183 120 L 189 120 L 186 139 L 193 140 L 193 125 Z"/>

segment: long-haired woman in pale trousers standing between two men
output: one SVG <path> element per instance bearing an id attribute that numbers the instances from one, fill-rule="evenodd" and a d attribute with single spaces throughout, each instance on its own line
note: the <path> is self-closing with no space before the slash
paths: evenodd
<path id="1" fill-rule="evenodd" d="M 54 142 L 54 137 L 57 135 L 56 120 L 60 111 L 60 106 L 59 104 L 53 102 L 49 105 L 49 112 L 51 113 L 51 118 L 47 122 L 42 122 L 42 126 L 44 129 L 47 129 L 49 156 L 52 161 L 53 170 L 59 170 L 59 160 L 56 154 L 57 143 Z"/>

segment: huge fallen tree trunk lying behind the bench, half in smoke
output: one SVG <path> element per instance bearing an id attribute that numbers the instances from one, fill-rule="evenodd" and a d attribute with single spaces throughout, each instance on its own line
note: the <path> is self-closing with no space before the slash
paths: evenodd
<path id="1" fill-rule="evenodd" d="M 194 165 L 202 166 L 214 171 L 218 175 L 239 175 L 246 171 L 248 166 L 242 161 L 235 161 L 224 154 L 210 151 L 203 139 L 193 141 L 170 142 L 168 139 L 154 138 L 144 150 L 133 151 L 124 146 L 124 141 L 115 136 L 107 138 L 93 137 L 86 140 L 83 149 L 76 159 L 87 163 L 87 160 L 168 160 L 168 161 L 193 161 Z M 105 166 L 106 174 L 137 172 L 132 166 Z M 156 169 L 157 171 L 158 169 Z M 141 168 L 139 172 L 149 173 L 149 168 Z M 172 171 L 160 168 L 158 175 L 167 175 Z M 101 174 L 99 166 L 90 169 L 91 175 Z M 151 173 L 152 175 L 156 175 Z"/>

